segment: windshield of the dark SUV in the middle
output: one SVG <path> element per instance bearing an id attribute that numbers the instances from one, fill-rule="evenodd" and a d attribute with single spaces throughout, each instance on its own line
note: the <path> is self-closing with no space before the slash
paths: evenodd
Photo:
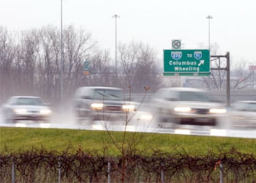
<path id="1" fill-rule="evenodd" d="M 122 100 L 122 90 L 97 89 L 93 98 L 97 100 Z"/>

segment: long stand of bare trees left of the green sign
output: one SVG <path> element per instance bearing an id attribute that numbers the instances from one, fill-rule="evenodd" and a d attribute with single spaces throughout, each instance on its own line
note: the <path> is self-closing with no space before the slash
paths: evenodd
<path id="1" fill-rule="evenodd" d="M 59 101 L 60 35 L 56 27 L 25 30 L 17 40 L 6 28 L 0 27 L 0 99 L 15 93 L 35 94 Z M 156 55 L 149 45 L 136 43 L 119 46 L 118 77 L 113 72 L 109 51 L 96 47 L 92 35 L 82 28 L 70 25 L 64 28 L 64 98 L 72 97 L 82 85 L 113 85 L 125 88 L 143 88 L 155 85 Z M 83 62 L 90 62 L 90 74 L 83 74 Z M 139 90 L 137 90 L 139 91 Z"/>

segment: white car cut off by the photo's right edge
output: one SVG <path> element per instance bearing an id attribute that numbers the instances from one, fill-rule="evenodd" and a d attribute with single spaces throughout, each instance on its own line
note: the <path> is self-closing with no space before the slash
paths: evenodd
<path id="1" fill-rule="evenodd" d="M 229 111 L 231 125 L 235 128 L 256 127 L 256 101 L 244 100 L 231 104 Z"/>

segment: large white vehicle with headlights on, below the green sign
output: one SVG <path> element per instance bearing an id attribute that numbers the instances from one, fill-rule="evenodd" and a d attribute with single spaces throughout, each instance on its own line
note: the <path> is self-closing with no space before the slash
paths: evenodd
<path id="1" fill-rule="evenodd" d="M 162 88 L 151 100 L 158 126 L 217 126 L 226 117 L 225 104 L 198 88 Z M 221 126 L 221 124 L 218 124 Z"/>

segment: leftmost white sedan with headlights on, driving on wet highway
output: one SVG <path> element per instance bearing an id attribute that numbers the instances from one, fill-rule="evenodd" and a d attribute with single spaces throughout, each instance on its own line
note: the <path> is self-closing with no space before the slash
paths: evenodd
<path id="1" fill-rule="evenodd" d="M 51 109 L 38 96 L 12 96 L 2 106 L 6 122 L 45 121 L 49 122 Z"/>

